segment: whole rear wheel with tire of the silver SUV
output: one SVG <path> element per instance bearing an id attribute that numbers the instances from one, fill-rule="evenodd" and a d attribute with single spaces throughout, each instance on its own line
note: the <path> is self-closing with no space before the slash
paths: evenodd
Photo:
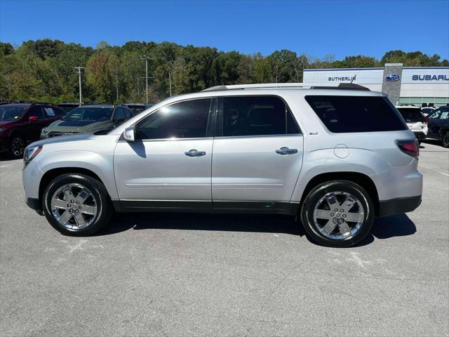
<path id="1" fill-rule="evenodd" d="M 373 227 L 374 205 L 361 186 L 347 180 L 328 181 L 307 194 L 301 220 L 314 242 L 323 246 L 353 246 Z"/>

